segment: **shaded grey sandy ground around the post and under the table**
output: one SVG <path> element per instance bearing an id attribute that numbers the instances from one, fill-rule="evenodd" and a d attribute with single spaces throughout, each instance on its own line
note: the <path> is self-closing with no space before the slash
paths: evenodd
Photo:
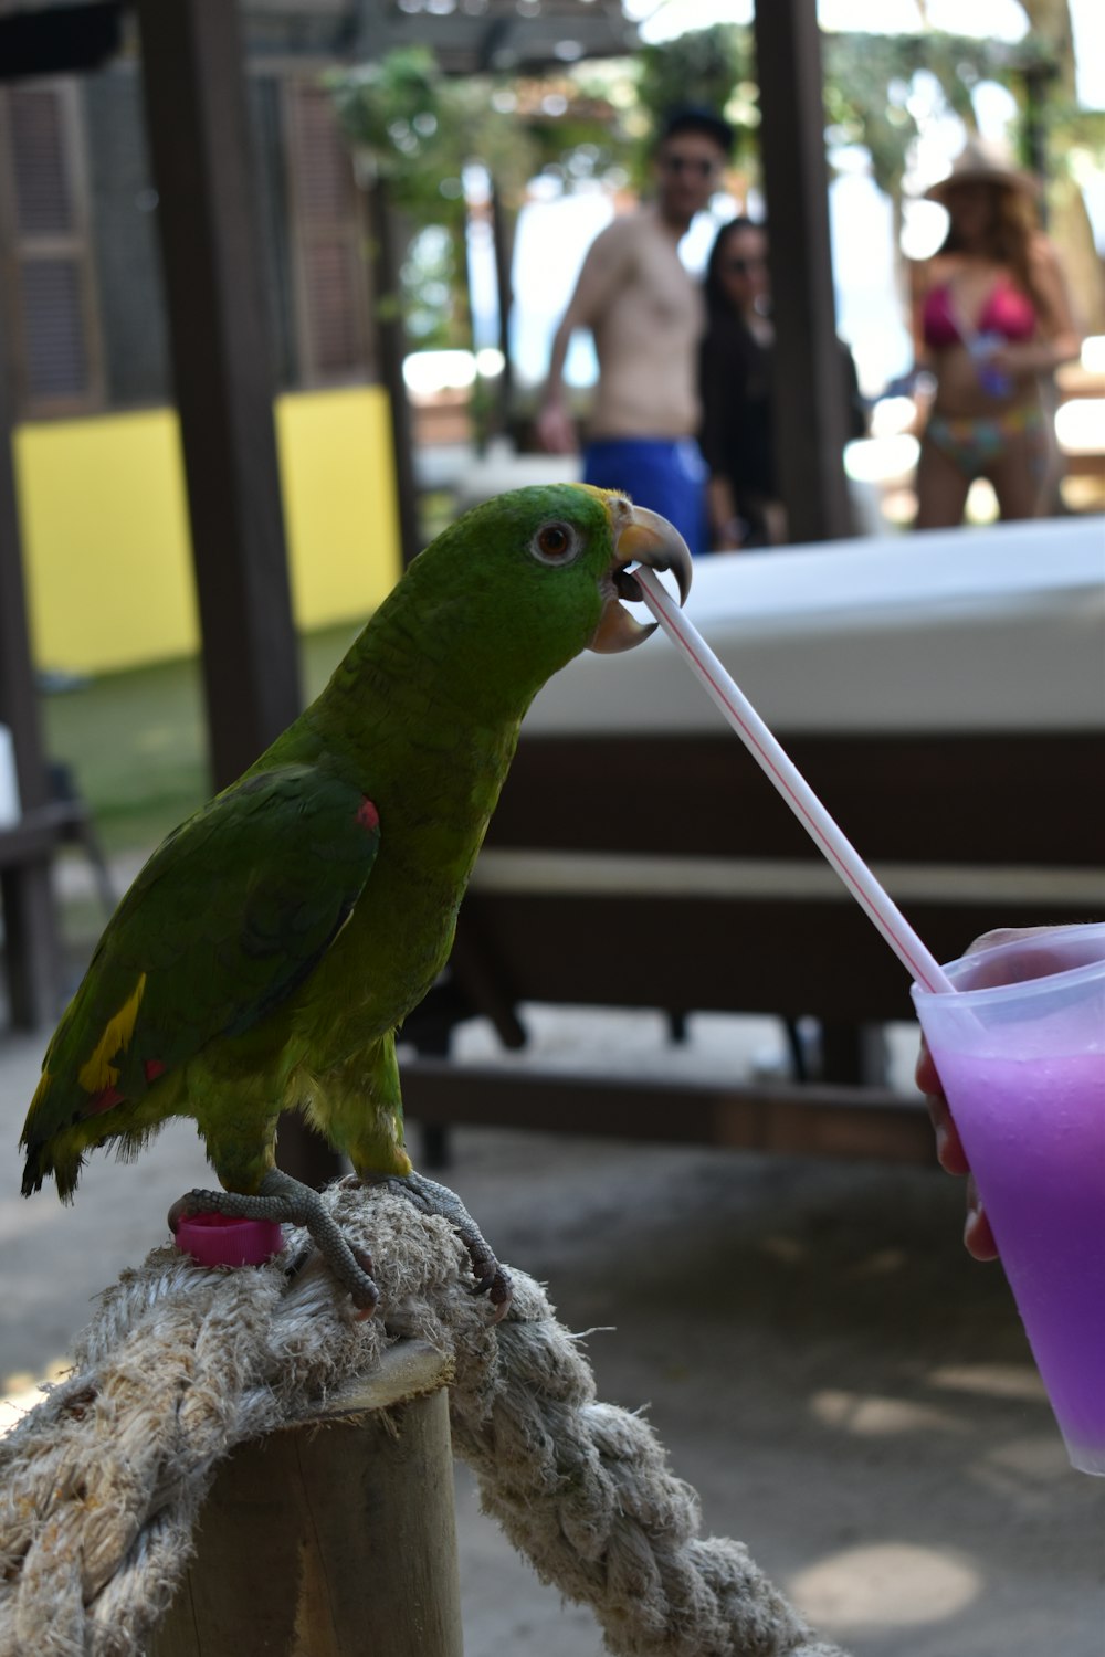
<path id="1" fill-rule="evenodd" d="M 537 1019 L 567 1062 L 724 1064 L 764 1021 Z M 464 1032 L 477 1054 L 485 1037 Z M 900 1037 L 908 1069 L 911 1036 Z M 103 1155 L 78 1201 L 18 1195 L 15 1140 L 41 1044 L 0 1037 L 5 1296 L 0 1389 L 33 1402 L 89 1301 L 164 1236 L 204 1175 L 189 1125 L 139 1167 Z M 417 1130 L 413 1132 L 417 1148 Z M 959 1244 L 963 1193 L 934 1170 L 462 1130 L 449 1181 L 494 1246 L 595 1329 L 600 1397 L 648 1407 L 704 1529 L 759 1564 L 855 1657 L 1103 1657 L 1105 1481 L 1070 1471 L 997 1268 Z M 480 1516 L 457 1471 L 469 1657 L 598 1657 Z"/>

